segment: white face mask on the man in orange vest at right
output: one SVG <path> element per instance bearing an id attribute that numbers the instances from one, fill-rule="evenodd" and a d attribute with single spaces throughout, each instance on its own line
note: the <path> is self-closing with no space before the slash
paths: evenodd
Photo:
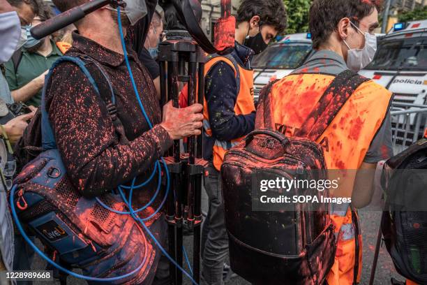
<path id="1" fill-rule="evenodd" d="M 363 35 L 364 33 L 350 22 Z M 344 41 L 344 40 L 343 40 Z M 361 49 L 352 49 L 345 41 L 345 45 L 348 47 L 347 53 L 347 67 L 354 72 L 358 72 L 361 69 L 368 66 L 373 61 L 375 52 L 377 52 L 377 37 L 369 33 L 365 33 L 365 46 Z"/>

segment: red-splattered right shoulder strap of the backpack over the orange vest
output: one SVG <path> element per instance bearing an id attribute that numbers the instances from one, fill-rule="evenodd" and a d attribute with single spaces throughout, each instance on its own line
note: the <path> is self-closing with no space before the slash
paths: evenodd
<path id="1" fill-rule="evenodd" d="M 369 81 L 368 78 L 350 70 L 338 74 L 315 105 L 304 126 L 295 133 L 295 136 L 307 137 L 313 141 L 320 138 L 343 108 L 345 102 L 362 83 L 367 81 Z"/>

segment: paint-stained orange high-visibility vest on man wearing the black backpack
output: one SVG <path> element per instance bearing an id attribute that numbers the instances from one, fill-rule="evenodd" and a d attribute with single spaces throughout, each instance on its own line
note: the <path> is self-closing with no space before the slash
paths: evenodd
<path id="1" fill-rule="evenodd" d="M 263 117 L 274 126 L 286 126 L 282 129 L 292 136 L 295 129 L 301 129 L 334 78 L 333 75 L 318 73 L 288 75 L 271 88 L 269 110 L 263 110 L 264 114 L 257 115 L 257 118 Z M 329 170 L 360 168 L 370 143 L 387 116 L 390 101 L 391 93 L 373 81 L 365 82 L 350 96 L 317 141 L 322 145 L 327 142 L 324 156 Z M 350 187 L 343 185 L 345 189 L 353 188 L 355 172 L 351 172 L 350 176 L 353 177 L 346 179 L 345 183 L 349 183 Z M 348 195 L 351 197 L 351 193 Z M 356 237 L 350 207 L 334 209 L 331 220 L 336 226 L 338 247 L 327 282 L 329 285 L 351 285 L 354 279 Z M 360 280 L 361 235 L 357 238 L 360 244 L 357 279 Z"/>

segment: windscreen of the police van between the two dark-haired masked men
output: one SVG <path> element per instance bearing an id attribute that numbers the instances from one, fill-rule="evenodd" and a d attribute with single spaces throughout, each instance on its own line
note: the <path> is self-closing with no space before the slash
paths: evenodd
<path id="1" fill-rule="evenodd" d="M 271 45 L 253 61 L 254 68 L 294 69 L 303 64 L 311 45 L 283 43 Z"/>

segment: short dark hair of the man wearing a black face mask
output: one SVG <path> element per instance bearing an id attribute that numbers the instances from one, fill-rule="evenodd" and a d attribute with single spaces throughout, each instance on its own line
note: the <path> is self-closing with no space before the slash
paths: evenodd
<path id="1" fill-rule="evenodd" d="M 287 27 L 287 13 L 282 0 L 243 0 L 237 10 L 237 24 L 260 16 L 260 25 L 273 26 L 278 34 Z"/>

